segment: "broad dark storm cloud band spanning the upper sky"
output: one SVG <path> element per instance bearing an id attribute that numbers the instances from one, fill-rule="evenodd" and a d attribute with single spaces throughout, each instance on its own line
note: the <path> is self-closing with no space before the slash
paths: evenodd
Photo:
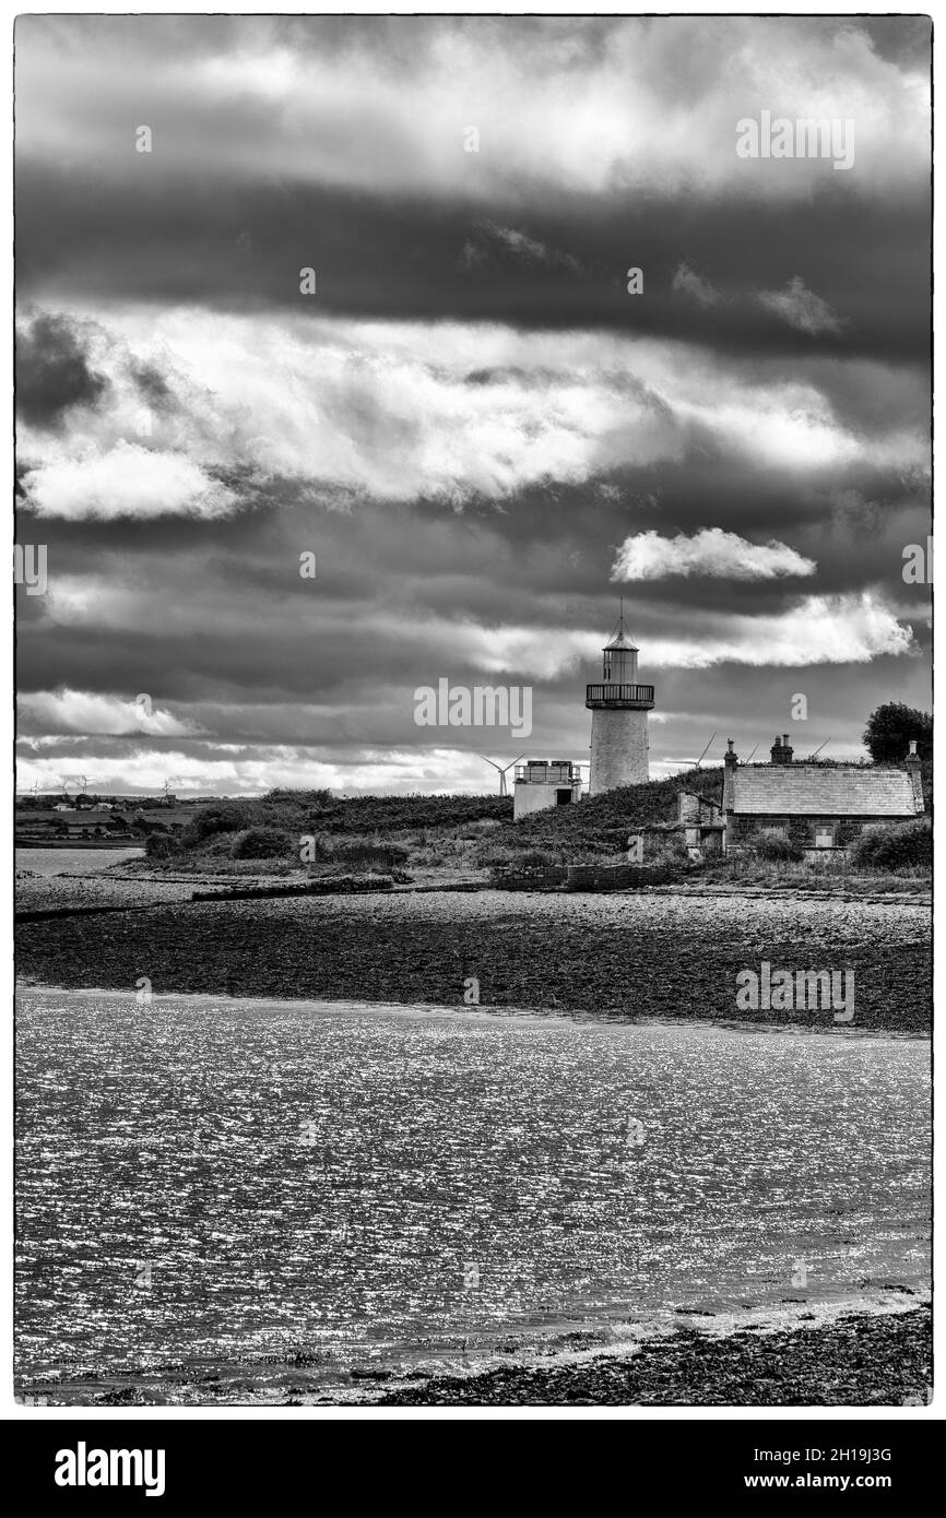
<path id="1" fill-rule="evenodd" d="M 507 208 L 507 220 L 513 216 Z M 59 231 L 64 219 L 68 240 Z M 208 196 L 207 184 L 187 175 L 134 182 L 115 202 L 106 185 L 76 185 L 62 170 L 38 167 L 23 175 L 18 250 L 23 293 L 56 301 L 606 326 L 705 343 L 726 355 L 794 361 L 805 361 L 812 348 L 897 363 L 925 352 L 923 203 L 891 217 L 843 187 L 791 208 L 743 199 L 682 205 L 659 196 L 647 206 L 610 197 L 604 208 L 559 197 L 553 213 L 533 209 L 515 223 L 548 258 L 519 255 L 492 238 L 480 261 L 465 263 L 478 226 L 449 202 L 378 202 L 298 184 L 225 187 Z M 251 252 L 240 241 L 244 235 Z M 674 275 L 688 258 L 698 258 L 721 293 L 718 304 L 700 307 L 674 291 Z M 644 270 L 642 296 L 627 293 L 632 266 Z M 304 267 L 317 278 L 308 304 L 299 293 Z M 838 313 L 840 331 L 812 337 L 759 301 L 796 278 Z"/>

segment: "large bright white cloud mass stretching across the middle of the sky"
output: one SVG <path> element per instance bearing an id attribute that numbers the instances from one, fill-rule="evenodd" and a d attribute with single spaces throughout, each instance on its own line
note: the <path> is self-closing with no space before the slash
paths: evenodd
<path id="1" fill-rule="evenodd" d="M 714 448 L 799 474 L 928 460 L 920 428 L 894 419 L 861 437 L 814 378 L 759 378 L 685 343 L 190 308 L 111 311 L 108 323 L 99 407 L 67 437 L 21 428 L 41 515 L 220 516 L 238 504 L 216 478 L 231 471 L 295 478 L 343 502 L 366 493 L 462 505 Z M 146 416 L 149 448 L 128 440 L 143 410 L 134 361 L 170 389 Z M 484 373 L 489 383 L 471 378 Z"/>

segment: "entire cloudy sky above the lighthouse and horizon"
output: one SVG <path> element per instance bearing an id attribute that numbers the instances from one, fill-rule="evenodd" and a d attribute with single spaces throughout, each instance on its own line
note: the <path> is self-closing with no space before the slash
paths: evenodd
<path id="1" fill-rule="evenodd" d="M 922 17 L 21 17 L 20 788 L 492 791 L 588 759 L 621 597 L 654 777 L 928 709 L 928 70 Z"/>

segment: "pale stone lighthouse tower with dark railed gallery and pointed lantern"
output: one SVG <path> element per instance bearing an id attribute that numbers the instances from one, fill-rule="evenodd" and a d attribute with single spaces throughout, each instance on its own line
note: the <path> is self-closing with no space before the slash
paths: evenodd
<path id="1" fill-rule="evenodd" d="M 647 713 L 653 710 L 653 685 L 638 683 L 638 650 L 624 630 L 623 601 L 618 630 L 603 654 L 601 682 L 586 686 L 585 695 L 591 712 L 589 795 L 650 779 Z"/>

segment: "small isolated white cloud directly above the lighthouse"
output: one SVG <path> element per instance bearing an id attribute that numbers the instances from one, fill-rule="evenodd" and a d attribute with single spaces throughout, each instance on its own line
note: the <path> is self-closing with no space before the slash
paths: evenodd
<path id="1" fill-rule="evenodd" d="M 677 533 L 638 533 L 626 537 L 618 550 L 612 580 L 665 580 L 670 575 L 706 575 L 715 580 L 776 580 L 784 575 L 811 575 L 814 559 L 805 559 L 787 543 L 750 543 L 738 533 L 706 527 L 692 537 Z"/>

